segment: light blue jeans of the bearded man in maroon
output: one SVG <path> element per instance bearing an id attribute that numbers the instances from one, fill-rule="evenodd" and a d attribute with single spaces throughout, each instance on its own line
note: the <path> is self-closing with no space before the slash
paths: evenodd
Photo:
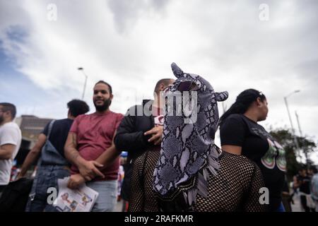
<path id="1" fill-rule="evenodd" d="M 112 212 L 117 203 L 117 180 L 86 182 L 86 186 L 98 192 L 92 212 Z"/>

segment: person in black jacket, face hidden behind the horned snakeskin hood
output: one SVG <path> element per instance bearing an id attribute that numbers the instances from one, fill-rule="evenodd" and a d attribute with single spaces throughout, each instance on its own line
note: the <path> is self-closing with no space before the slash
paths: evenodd
<path id="1" fill-rule="evenodd" d="M 121 197 L 124 201 L 130 198 L 130 178 L 132 162 L 146 150 L 160 149 L 163 134 L 163 95 L 160 93 L 175 80 L 163 78 L 155 85 L 154 100 L 143 100 L 142 105 L 130 107 L 122 119 L 114 137 L 117 150 L 127 151 L 127 163 L 124 165 L 124 182 Z"/>

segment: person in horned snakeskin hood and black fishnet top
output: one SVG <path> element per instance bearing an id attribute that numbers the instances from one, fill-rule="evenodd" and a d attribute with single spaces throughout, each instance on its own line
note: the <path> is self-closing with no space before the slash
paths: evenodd
<path id="1" fill-rule="evenodd" d="M 175 63 L 171 67 L 177 79 L 163 92 L 161 148 L 134 161 L 129 211 L 263 211 L 257 165 L 214 144 L 217 102 L 228 93 L 216 93 Z"/>

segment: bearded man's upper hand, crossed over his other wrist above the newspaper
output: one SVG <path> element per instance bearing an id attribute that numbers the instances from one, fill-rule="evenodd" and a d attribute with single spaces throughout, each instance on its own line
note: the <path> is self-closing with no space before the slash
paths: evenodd
<path id="1" fill-rule="evenodd" d="M 103 165 L 96 161 L 84 160 L 83 162 L 78 164 L 78 170 L 86 181 L 91 181 L 97 176 L 105 178 L 104 174 L 100 172 L 98 167 L 103 167 Z"/>

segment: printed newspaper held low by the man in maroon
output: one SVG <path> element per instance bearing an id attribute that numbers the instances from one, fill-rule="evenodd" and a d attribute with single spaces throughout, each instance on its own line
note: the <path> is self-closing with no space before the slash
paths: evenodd
<path id="1" fill-rule="evenodd" d="M 69 177 L 57 180 L 59 194 L 53 206 L 61 212 L 90 212 L 98 198 L 98 192 L 85 184 L 72 190 L 67 187 L 68 182 Z"/>

